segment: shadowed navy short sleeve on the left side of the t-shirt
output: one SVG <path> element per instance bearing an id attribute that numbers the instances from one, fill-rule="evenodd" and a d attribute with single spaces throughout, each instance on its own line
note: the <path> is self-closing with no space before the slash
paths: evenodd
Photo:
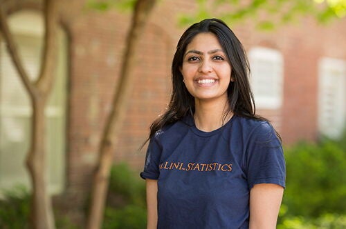
<path id="1" fill-rule="evenodd" d="M 147 155 L 145 156 L 144 170 L 143 172 L 140 172 L 140 177 L 143 179 L 158 179 L 158 164 L 160 162 L 160 157 L 161 148 L 155 137 L 152 137 L 147 148 Z"/>

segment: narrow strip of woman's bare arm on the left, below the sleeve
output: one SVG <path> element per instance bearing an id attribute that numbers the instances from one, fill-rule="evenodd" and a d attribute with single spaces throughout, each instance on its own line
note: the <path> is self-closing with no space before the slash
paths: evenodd
<path id="1" fill-rule="evenodd" d="M 157 227 L 157 180 L 146 179 L 147 189 L 147 229 Z"/>

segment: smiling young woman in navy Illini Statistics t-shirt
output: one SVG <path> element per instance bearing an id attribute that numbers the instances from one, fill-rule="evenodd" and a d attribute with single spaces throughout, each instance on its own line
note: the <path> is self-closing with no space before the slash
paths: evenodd
<path id="1" fill-rule="evenodd" d="M 166 112 L 151 126 L 147 228 L 275 228 L 285 184 L 279 135 L 255 115 L 242 44 L 219 19 L 186 30 Z"/>

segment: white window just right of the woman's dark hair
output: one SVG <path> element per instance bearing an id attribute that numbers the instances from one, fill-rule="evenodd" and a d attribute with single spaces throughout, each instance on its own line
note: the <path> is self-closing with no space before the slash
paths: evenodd
<path id="1" fill-rule="evenodd" d="M 256 107 L 280 108 L 283 93 L 282 54 L 271 48 L 256 47 L 250 50 L 249 61 Z"/>

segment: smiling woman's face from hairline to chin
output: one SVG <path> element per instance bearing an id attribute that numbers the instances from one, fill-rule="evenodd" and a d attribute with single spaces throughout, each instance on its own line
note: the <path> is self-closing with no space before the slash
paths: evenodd
<path id="1" fill-rule="evenodd" d="M 227 101 L 230 63 L 215 34 L 197 34 L 186 47 L 181 73 L 195 101 Z"/>

